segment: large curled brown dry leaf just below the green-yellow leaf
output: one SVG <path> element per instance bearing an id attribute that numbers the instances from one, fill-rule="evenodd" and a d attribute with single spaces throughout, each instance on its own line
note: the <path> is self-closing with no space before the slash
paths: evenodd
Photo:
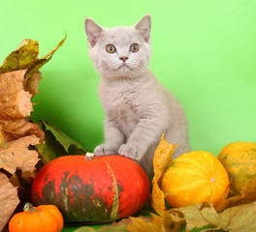
<path id="1" fill-rule="evenodd" d="M 31 94 L 23 90 L 25 70 L 0 74 L 0 124 L 6 141 L 35 134 L 44 139 L 38 125 L 27 122 L 33 111 Z"/>

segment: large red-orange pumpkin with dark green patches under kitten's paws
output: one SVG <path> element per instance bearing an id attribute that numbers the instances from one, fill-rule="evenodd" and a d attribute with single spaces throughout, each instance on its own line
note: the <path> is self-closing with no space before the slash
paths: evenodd
<path id="1" fill-rule="evenodd" d="M 49 161 L 32 186 L 35 204 L 56 205 L 65 221 L 111 221 L 144 207 L 150 185 L 144 169 L 121 156 L 66 156 Z"/>

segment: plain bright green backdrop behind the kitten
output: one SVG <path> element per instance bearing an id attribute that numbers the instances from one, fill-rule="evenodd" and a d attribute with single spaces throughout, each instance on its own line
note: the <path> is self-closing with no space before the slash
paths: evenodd
<path id="1" fill-rule="evenodd" d="M 67 32 L 41 69 L 42 93 L 33 100 L 41 103 L 33 117 L 88 151 L 103 140 L 104 112 L 87 55 L 85 16 L 113 27 L 151 14 L 150 69 L 183 105 L 194 150 L 217 156 L 230 142 L 255 141 L 256 1 L 1 0 L 0 9 L 0 62 L 25 38 L 38 41 L 44 55 Z"/>

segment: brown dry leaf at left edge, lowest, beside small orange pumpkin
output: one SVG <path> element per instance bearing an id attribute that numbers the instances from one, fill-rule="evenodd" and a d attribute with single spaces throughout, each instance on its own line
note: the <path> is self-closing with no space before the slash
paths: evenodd
<path id="1" fill-rule="evenodd" d="M 19 203 L 16 188 L 2 172 L 0 172 L 0 202 L 0 231 L 2 231 Z"/>

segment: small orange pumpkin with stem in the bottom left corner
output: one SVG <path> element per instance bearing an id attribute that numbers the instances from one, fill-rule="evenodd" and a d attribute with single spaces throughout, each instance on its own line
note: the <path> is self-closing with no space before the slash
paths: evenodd
<path id="1" fill-rule="evenodd" d="M 30 203 L 24 206 L 24 212 L 17 213 L 9 222 L 10 232 L 60 232 L 63 228 L 63 217 L 54 205 L 33 207 Z"/>

